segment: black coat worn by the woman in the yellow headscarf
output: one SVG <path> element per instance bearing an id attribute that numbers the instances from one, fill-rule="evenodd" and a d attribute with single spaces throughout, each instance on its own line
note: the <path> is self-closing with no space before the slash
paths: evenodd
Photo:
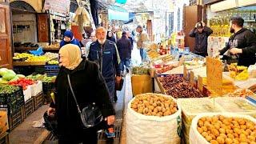
<path id="1" fill-rule="evenodd" d="M 81 110 L 86 104 L 95 102 L 104 117 L 114 115 L 115 112 L 106 82 L 96 63 L 83 60 L 74 70 L 61 67 L 55 82 L 56 104 L 51 107 L 56 107 L 58 134 L 78 138 L 78 135 L 82 134 L 82 120 L 70 91 L 67 74 L 70 74 L 70 81 Z"/>

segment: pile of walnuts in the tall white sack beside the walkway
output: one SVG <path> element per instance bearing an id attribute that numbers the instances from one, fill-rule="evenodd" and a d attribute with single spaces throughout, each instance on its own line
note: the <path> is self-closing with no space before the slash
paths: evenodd
<path id="1" fill-rule="evenodd" d="M 158 117 L 174 114 L 178 110 L 172 98 L 150 93 L 137 95 L 130 107 L 140 114 Z"/>

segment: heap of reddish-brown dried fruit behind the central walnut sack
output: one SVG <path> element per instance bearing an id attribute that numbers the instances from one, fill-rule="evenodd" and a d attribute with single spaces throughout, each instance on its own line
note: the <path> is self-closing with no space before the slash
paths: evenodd
<path id="1" fill-rule="evenodd" d="M 166 94 L 173 98 L 202 98 L 202 93 L 190 82 L 186 81 L 180 75 L 171 74 L 166 77 L 159 77 L 162 87 Z"/>

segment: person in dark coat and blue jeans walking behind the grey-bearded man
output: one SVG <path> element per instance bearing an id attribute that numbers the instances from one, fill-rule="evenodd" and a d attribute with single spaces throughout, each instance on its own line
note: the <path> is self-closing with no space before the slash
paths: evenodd
<path id="1" fill-rule="evenodd" d="M 117 46 L 121 58 L 121 70 L 124 72 L 124 66 L 126 66 L 126 72 L 129 73 L 128 68 L 130 68 L 131 43 L 130 39 L 126 36 L 125 31 L 122 32 L 122 38 L 118 39 Z"/>

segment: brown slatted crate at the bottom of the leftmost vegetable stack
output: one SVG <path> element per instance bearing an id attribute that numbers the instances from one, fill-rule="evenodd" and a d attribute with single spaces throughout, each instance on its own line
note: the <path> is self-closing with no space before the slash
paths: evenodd
<path id="1" fill-rule="evenodd" d="M 15 127 L 20 125 L 25 118 L 25 108 L 22 106 L 17 110 L 15 113 L 9 114 L 8 115 L 8 122 L 9 122 L 9 127 L 10 130 L 14 130 Z"/>

